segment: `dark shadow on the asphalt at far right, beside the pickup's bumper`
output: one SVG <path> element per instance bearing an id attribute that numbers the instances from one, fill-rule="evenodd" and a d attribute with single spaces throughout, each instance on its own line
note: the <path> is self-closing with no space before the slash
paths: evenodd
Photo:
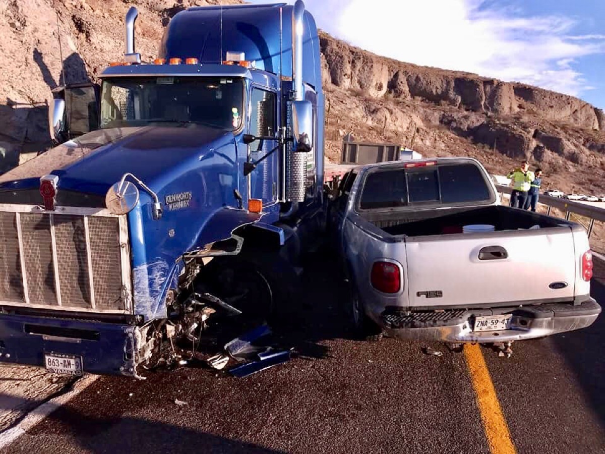
<path id="1" fill-rule="evenodd" d="M 590 285 L 590 294 L 604 306 L 605 284 L 593 280 Z M 554 336 L 552 339 L 570 369 L 575 372 L 584 390 L 587 406 L 605 425 L 605 314 L 601 313 L 592 326 L 575 331 L 572 336 Z"/>

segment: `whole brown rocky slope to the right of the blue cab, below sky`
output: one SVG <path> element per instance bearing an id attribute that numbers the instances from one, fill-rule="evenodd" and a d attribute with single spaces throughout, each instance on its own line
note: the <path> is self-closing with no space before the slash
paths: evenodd
<path id="1" fill-rule="evenodd" d="M 572 96 L 476 74 L 397 62 L 321 35 L 329 157 L 344 134 L 425 156 L 473 156 L 506 173 L 519 160 L 546 185 L 605 192 L 603 111 Z"/>

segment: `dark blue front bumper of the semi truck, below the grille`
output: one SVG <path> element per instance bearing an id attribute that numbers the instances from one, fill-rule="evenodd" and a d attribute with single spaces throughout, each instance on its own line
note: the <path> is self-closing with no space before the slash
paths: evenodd
<path id="1" fill-rule="evenodd" d="M 83 373 L 137 377 L 138 329 L 122 323 L 0 314 L 0 362 L 45 367 L 45 355 L 67 355 L 81 358 Z"/>

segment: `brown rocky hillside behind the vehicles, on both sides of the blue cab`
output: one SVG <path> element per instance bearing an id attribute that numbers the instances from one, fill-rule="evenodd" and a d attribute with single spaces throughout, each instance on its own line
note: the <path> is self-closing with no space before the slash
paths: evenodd
<path id="1" fill-rule="evenodd" d="M 130 5 L 140 13 L 137 50 L 149 61 L 175 13 L 219 2 L 0 2 L 0 171 L 49 145 L 46 103 L 63 83 L 62 62 L 67 81 L 80 82 L 122 57 Z M 528 85 L 397 62 L 325 34 L 321 51 L 328 159 L 338 160 L 342 137 L 352 133 L 356 140 L 413 146 L 425 156 L 474 156 L 497 173 L 527 158 L 545 169 L 548 186 L 605 193 L 605 116 L 592 105 Z"/>

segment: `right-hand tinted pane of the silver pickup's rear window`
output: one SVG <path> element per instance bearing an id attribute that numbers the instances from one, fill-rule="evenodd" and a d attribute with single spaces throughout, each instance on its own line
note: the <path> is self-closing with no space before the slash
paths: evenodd
<path id="1" fill-rule="evenodd" d="M 489 200 L 488 185 L 479 168 L 473 164 L 439 167 L 443 203 L 483 202 Z"/>

